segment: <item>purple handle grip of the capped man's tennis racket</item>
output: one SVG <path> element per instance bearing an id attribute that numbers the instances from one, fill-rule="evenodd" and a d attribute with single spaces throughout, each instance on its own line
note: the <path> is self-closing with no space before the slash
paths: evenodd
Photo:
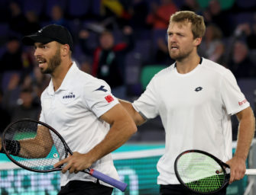
<path id="1" fill-rule="evenodd" d="M 91 174 L 93 177 L 96 177 L 100 181 L 104 181 L 105 183 L 110 184 L 113 187 L 118 188 L 119 190 L 122 190 L 122 192 L 124 192 L 127 187 L 127 184 L 123 183 L 122 181 L 115 180 L 114 178 L 109 177 L 106 174 L 102 174 L 101 172 L 96 171 L 92 168 L 89 170 L 89 174 Z"/>

